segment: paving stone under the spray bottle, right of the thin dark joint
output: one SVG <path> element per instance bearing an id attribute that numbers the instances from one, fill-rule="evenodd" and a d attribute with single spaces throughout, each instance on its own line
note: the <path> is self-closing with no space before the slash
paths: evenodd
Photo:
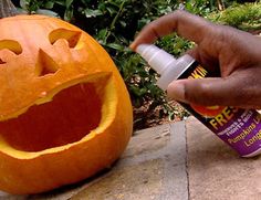
<path id="1" fill-rule="evenodd" d="M 261 156 L 240 158 L 194 117 L 186 125 L 189 199 L 260 200 Z"/>

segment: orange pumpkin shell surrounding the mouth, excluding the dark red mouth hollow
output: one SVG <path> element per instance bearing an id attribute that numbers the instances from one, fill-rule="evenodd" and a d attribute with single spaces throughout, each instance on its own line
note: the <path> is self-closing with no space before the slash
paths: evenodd
<path id="1" fill-rule="evenodd" d="M 54 18 L 4 18 L 0 30 L 0 123 L 48 104 L 76 84 L 90 82 L 97 93 L 104 90 L 98 126 L 77 141 L 28 151 L 4 144 L 0 129 L 0 190 L 43 192 L 112 165 L 129 140 L 133 116 L 127 90 L 108 54 L 87 33 Z M 103 80 L 106 83 L 98 86 Z"/>

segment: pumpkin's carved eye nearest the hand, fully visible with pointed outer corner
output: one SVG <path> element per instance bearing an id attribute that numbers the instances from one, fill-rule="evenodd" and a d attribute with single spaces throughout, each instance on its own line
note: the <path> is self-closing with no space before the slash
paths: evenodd
<path id="1" fill-rule="evenodd" d="M 64 39 L 67 41 L 70 48 L 75 48 L 79 43 L 81 34 L 81 31 L 56 29 L 49 34 L 49 41 L 51 44 L 54 44 L 58 40 Z"/>

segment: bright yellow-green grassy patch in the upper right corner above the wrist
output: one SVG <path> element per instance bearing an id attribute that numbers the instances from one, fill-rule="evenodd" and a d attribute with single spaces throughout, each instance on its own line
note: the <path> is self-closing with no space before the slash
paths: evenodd
<path id="1" fill-rule="evenodd" d="M 210 14 L 209 19 L 246 31 L 260 30 L 261 1 L 244 4 L 233 3 L 222 12 Z"/>

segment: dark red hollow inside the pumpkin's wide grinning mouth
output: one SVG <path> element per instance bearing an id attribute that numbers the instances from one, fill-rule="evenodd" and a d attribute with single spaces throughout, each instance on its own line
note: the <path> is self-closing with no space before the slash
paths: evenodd
<path id="1" fill-rule="evenodd" d="M 22 151 L 40 151 L 81 140 L 102 119 L 105 84 L 103 81 L 76 84 L 59 92 L 51 102 L 1 122 L 1 139 Z"/>

